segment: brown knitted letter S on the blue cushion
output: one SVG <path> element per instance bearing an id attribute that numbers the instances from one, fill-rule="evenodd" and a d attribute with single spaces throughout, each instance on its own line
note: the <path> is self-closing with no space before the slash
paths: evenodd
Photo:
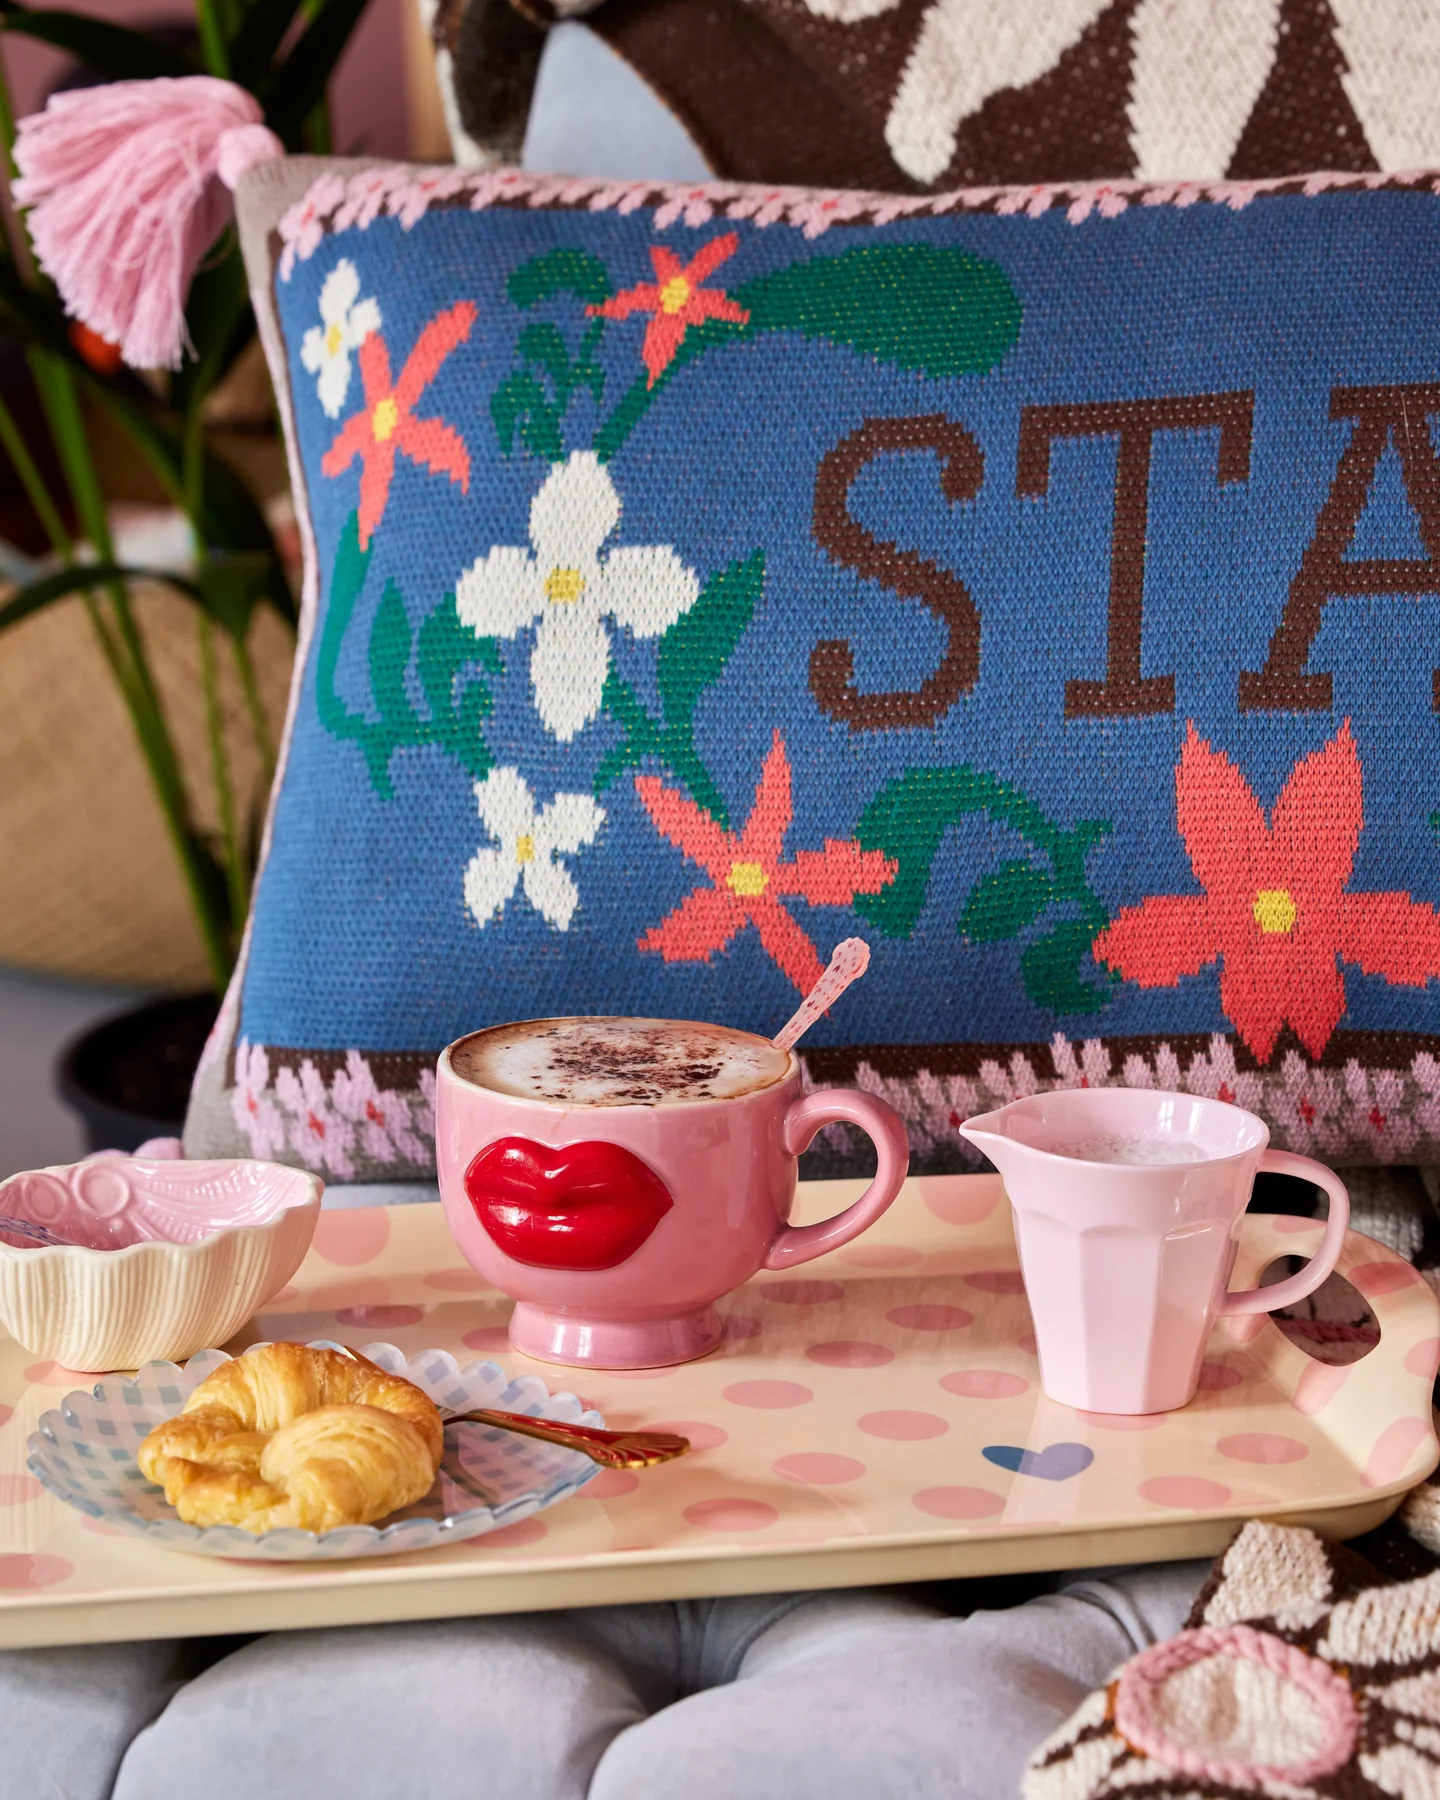
<path id="1" fill-rule="evenodd" d="M 850 511 L 850 488 L 877 455 L 893 450 L 934 450 L 940 491 L 954 506 L 974 500 L 985 477 L 985 457 L 970 432 L 940 412 L 909 419 L 866 419 L 824 457 L 815 475 L 815 540 L 837 563 L 880 581 L 893 594 L 923 601 L 949 630 L 940 668 L 914 691 L 860 693 L 855 655 L 842 637 L 815 644 L 810 653 L 810 693 L 823 713 L 851 731 L 900 731 L 932 725 L 976 686 L 979 677 L 979 612 L 963 581 L 873 536 Z"/>

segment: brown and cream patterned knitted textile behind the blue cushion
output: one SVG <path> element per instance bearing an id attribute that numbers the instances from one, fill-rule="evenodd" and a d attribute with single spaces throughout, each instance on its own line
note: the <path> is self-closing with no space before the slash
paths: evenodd
<path id="1" fill-rule="evenodd" d="M 472 140 L 504 135 L 504 13 L 436 13 Z M 925 193 L 1440 162 L 1431 0 L 594 0 L 587 23 L 733 180 Z"/>

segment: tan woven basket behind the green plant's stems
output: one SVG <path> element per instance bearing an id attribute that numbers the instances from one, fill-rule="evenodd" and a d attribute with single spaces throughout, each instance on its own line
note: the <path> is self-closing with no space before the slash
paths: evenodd
<path id="1" fill-rule="evenodd" d="M 166 715 L 203 828 L 218 824 L 194 607 L 133 590 Z M 263 803 L 227 641 L 216 634 L 238 814 Z M 290 630 L 257 608 L 250 653 L 279 736 Z M 92 981 L 207 988 L 200 932 L 130 718 L 79 601 L 0 641 L 0 963 Z"/>

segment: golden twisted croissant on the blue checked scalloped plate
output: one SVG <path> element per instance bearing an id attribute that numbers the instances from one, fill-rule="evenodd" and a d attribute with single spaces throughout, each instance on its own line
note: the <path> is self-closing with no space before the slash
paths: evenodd
<path id="1" fill-rule="evenodd" d="M 263 1345 L 202 1381 L 139 1463 L 189 1525 L 328 1532 L 427 1494 L 443 1442 L 414 1382 L 338 1350 Z"/>

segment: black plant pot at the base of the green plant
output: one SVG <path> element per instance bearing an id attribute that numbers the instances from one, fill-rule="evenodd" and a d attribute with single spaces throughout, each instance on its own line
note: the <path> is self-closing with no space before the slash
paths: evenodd
<path id="1" fill-rule="evenodd" d="M 65 1048 L 56 1087 L 85 1121 L 86 1148 L 137 1150 L 146 1138 L 180 1136 L 218 1010 L 214 994 L 149 1001 Z"/>

